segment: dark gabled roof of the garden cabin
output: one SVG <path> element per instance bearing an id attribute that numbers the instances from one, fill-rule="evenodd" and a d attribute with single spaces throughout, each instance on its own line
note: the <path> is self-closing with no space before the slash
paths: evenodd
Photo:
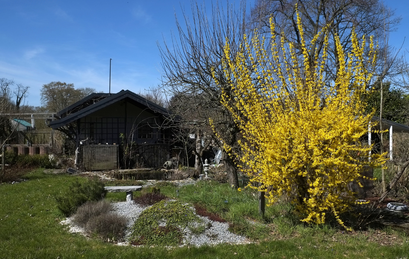
<path id="1" fill-rule="evenodd" d="M 158 115 L 160 114 L 165 118 L 172 120 L 177 120 L 179 118 L 178 116 L 174 116 L 170 111 L 168 111 L 168 109 L 157 105 L 156 103 L 153 103 L 150 100 L 135 94 L 134 92 L 122 90 L 121 92 L 112 95 L 105 93 L 90 94 L 82 100 L 79 100 L 78 102 L 57 112 L 57 116 L 61 118 L 56 121 L 50 121 L 49 126 L 53 129 L 58 129 L 123 99 L 133 101 L 145 109 L 148 109 L 149 112 Z"/>

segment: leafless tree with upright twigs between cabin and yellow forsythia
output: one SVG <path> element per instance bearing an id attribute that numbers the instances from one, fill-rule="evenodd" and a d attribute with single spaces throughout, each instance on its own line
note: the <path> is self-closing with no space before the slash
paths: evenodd
<path id="1" fill-rule="evenodd" d="M 190 18 L 189 18 L 190 17 Z M 182 22 L 182 23 L 181 23 Z M 224 46 L 229 41 L 231 53 L 240 48 L 245 34 L 245 3 L 238 7 L 219 2 L 211 6 L 209 16 L 205 6 L 192 2 L 191 13 L 183 9 L 183 18 L 176 17 L 177 33 L 172 43 L 164 42 L 162 55 L 163 85 L 177 101 L 170 102 L 173 113 L 182 117 L 182 123 L 196 125 L 196 139 L 206 137 L 203 129 L 210 128 L 209 119 L 218 136 L 218 145 L 235 146 L 240 132 L 231 114 L 220 103 L 223 92 L 231 85 L 222 69 Z M 214 78 L 219 82 L 216 84 Z M 213 134 L 212 134 L 213 135 Z M 200 157 L 200 146 L 195 154 Z M 235 157 L 224 152 L 229 183 L 238 187 Z M 200 166 L 200 165 L 197 165 Z"/>

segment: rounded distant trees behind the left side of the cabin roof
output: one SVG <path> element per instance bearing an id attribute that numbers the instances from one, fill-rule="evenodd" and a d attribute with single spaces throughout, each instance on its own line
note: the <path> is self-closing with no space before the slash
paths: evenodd
<path id="1" fill-rule="evenodd" d="M 95 91 L 90 87 L 75 89 L 74 84 L 51 82 L 43 85 L 40 91 L 41 102 L 47 111 L 58 112 Z"/>

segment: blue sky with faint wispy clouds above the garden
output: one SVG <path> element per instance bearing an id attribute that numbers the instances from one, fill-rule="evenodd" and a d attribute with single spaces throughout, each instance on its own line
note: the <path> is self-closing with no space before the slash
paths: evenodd
<path id="1" fill-rule="evenodd" d="M 210 7 L 211 1 L 205 1 Z M 253 3 L 254 1 L 251 1 Z M 402 16 L 390 44 L 409 36 L 406 1 L 385 4 Z M 134 92 L 160 83 L 156 42 L 170 40 L 175 11 L 190 1 L 1 1 L 0 78 L 30 86 L 29 105 L 40 105 L 40 89 L 51 81 L 108 92 Z M 208 7 L 208 8 L 209 8 Z M 409 49 L 409 38 L 403 50 Z"/>

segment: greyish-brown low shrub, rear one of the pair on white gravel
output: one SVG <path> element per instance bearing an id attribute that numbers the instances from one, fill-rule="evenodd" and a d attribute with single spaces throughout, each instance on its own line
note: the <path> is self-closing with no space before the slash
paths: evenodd
<path id="1" fill-rule="evenodd" d="M 73 221 L 79 226 L 85 226 L 92 217 L 97 217 L 101 214 L 108 213 L 112 210 L 112 205 L 109 201 L 87 201 L 84 205 L 78 208 L 74 215 Z"/>

